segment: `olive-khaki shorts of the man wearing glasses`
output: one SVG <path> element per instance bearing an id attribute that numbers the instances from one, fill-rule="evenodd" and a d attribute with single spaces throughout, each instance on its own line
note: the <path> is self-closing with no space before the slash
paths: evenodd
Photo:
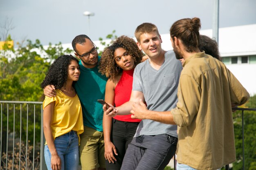
<path id="1" fill-rule="evenodd" d="M 80 135 L 79 154 L 82 170 L 106 168 L 104 157 L 103 132 L 99 132 L 88 126 L 83 126 L 84 131 Z"/>

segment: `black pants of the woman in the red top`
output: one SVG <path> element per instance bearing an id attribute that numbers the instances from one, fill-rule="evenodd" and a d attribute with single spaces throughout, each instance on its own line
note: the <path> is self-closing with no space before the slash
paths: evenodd
<path id="1" fill-rule="evenodd" d="M 128 144 L 132 141 L 138 125 L 139 122 L 127 122 L 112 119 L 110 139 L 115 145 L 118 155 L 115 155 L 113 152 L 117 159 L 115 163 L 109 163 L 108 160 L 106 160 L 107 170 L 120 170 Z"/>

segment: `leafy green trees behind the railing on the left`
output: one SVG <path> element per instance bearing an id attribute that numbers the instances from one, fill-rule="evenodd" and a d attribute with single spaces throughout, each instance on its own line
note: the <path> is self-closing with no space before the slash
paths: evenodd
<path id="1" fill-rule="evenodd" d="M 7 40 L 11 40 L 9 35 Z M 0 51 L 0 100 L 3 101 L 40 101 L 43 91 L 40 84 L 45 77 L 45 73 L 52 61 L 59 55 L 70 54 L 72 50 L 63 49 L 61 43 L 49 46 L 44 49 L 39 40 L 32 42 L 27 40 L 27 44 L 22 46 L 17 43 L 18 48 L 13 49 L 4 46 Z M 9 132 L 13 131 L 13 110 L 14 106 L 9 106 Z M 20 110 L 20 106 L 16 104 L 16 110 Z M 22 105 L 22 108 L 26 108 Z M 34 131 L 34 108 L 29 107 L 28 131 L 33 134 Z M 36 134 L 40 134 L 40 106 L 36 106 Z M 7 106 L 3 105 L 3 129 L 7 129 Z M 27 116 L 25 110 L 22 109 L 22 140 L 26 138 Z M 15 116 L 15 133 L 20 133 L 20 117 Z M 29 140 L 33 141 L 33 135 L 29 135 Z M 40 141 L 40 135 L 36 135 L 36 141 Z"/>

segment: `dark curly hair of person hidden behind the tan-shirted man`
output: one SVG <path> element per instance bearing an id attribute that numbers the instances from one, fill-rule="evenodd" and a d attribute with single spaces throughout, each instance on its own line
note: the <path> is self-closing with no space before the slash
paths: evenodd
<path id="1" fill-rule="evenodd" d="M 209 54 L 221 61 L 218 43 L 210 37 L 200 35 L 198 48 L 200 51 L 204 51 L 206 54 Z"/>

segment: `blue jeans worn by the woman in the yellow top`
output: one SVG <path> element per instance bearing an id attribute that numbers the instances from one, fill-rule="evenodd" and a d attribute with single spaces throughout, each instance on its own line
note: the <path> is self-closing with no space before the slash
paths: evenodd
<path id="1" fill-rule="evenodd" d="M 54 140 L 58 156 L 61 158 L 61 170 L 77 170 L 79 165 L 78 136 L 76 131 L 56 137 Z M 51 153 L 45 145 L 45 163 L 48 170 L 51 168 Z"/>

